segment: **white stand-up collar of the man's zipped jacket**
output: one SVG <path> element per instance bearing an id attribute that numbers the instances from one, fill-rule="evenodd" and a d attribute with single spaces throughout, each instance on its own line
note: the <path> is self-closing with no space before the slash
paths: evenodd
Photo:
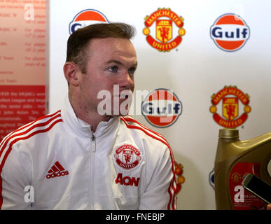
<path id="1" fill-rule="evenodd" d="M 120 117 L 110 118 L 109 121 L 102 121 L 97 126 L 96 132 L 91 130 L 91 125 L 85 123 L 83 120 L 76 117 L 74 109 L 69 102 L 69 97 L 66 96 L 64 99 L 64 104 L 62 106 L 61 115 L 64 123 L 69 126 L 72 132 L 76 133 L 81 137 L 90 138 L 95 136 L 96 138 L 102 137 L 106 134 L 110 134 L 113 130 L 118 128 L 120 123 Z"/>

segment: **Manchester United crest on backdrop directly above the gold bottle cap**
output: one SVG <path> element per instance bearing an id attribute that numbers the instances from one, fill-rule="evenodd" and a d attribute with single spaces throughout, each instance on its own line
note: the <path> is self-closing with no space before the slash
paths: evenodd
<path id="1" fill-rule="evenodd" d="M 221 114 L 218 114 L 218 104 L 221 102 Z M 239 103 L 241 102 L 241 103 Z M 213 113 L 213 118 L 225 128 L 235 128 L 242 125 L 248 118 L 248 113 L 251 111 L 249 106 L 249 94 L 244 94 L 238 90 L 236 86 L 225 86 L 222 90 L 211 96 L 210 112 Z M 243 111 L 242 111 L 242 105 Z M 239 115 L 239 111 L 241 115 Z"/>

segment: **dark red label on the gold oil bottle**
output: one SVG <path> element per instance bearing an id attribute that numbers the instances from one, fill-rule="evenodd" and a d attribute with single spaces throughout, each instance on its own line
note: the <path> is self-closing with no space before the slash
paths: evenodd
<path id="1" fill-rule="evenodd" d="M 254 174 L 260 178 L 260 162 L 238 162 L 229 176 L 230 197 L 235 210 L 262 210 L 265 203 L 245 190 L 241 183 L 246 174 Z"/>

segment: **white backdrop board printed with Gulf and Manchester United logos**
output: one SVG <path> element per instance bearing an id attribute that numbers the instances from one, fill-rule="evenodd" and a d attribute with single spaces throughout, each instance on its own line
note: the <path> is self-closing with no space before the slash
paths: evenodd
<path id="1" fill-rule="evenodd" d="M 135 92 L 146 94 L 134 94 L 130 113 L 172 147 L 178 209 L 216 209 L 218 130 L 237 127 L 240 139 L 271 132 L 270 8 L 264 0 L 50 1 L 50 112 L 67 94 L 62 67 L 71 31 L 93 20 L 134 25 Z M 166 111 L 154 118 L 158 103 Z"/>

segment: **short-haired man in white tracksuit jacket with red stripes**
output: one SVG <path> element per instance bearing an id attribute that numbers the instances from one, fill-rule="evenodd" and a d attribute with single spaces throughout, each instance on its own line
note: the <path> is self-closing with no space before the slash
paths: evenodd
<path id="1" fill-rule="evenodd" d="M 1 141 L 1 209 L 176 209 L 169 144 L 121 108 L 134 91 L 133 35 L 122 23 L 71 34 L 62 108 Z"/>

